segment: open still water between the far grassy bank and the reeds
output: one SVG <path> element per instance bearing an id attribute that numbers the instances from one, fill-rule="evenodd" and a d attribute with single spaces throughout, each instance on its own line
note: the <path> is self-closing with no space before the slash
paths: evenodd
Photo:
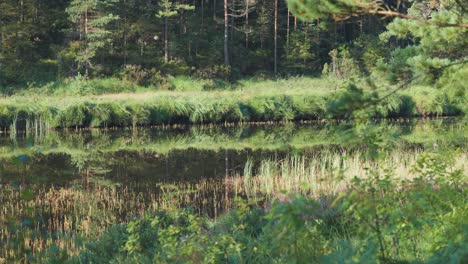
<path id="1" fill-rule="evenodd" d="M 464 147 L 466 121 L 385 122 L 399 148 Z M 67 186 L 83 174 L 119 184 L 198 182 L 242 175 L 246 161 L 280 159 L 348 144 L 324 124 L 182 127 L 140 130 L 50 131 L 46 135 L 0 137 L 0 182 Z"/>

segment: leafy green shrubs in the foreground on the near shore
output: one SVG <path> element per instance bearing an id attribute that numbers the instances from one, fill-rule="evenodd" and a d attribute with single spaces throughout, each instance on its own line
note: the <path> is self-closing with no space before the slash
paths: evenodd
<path id="1" fill-rule="evenodd" d="M 336 197 L 280 195 L 268 210 L 238 201 L 216 221 L 166 210 L 115 225 L 71 262 L 462 262 L 467 175 L 424 153 L 415 177 L 368 170 Z M 362 175 L 364 176 L 364 175 Z"/>

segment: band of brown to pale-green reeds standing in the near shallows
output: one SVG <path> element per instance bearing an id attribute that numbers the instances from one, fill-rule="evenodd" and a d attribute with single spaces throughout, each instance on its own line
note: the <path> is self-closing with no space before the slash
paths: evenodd
<path id="1" fill-rule="evenodd" d="M 230 175 L 195 183 L 120 186 L 91 177 L 63 188 L 6 185 L 0 191 L 0 241 L 6 241 L 0 257 L 18 259 L 25 252 L 44 252 L 51 245 L 75 254 L 83 246 L 80 239 L 95 237 L 113 223 L 148 211 L 190 206 L 199 214 L 217 217 L 231 210 L 238 197 L 268 206 L 284 191 L 308 197 L 337 194 L 348 188 L 354 176 L 365 178 L 369 170 L 388 174 L 389 169 L 396 178 L 411 179 L 410 167 L 418 154 L 395 151 L 384 164 L 367 160 L 363 152 L 341 151 L 263 160 L 258 167 L 249 160 L 244 177 Z M 466 153 L 458 154 L 456 162 L 468 173 Z"/>

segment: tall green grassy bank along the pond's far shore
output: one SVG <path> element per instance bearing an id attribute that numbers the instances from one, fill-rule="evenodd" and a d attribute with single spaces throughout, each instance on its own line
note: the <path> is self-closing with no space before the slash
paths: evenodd
<path id="1" fill-rule="evenodd" d="M 356 103 L 357 97 L 365 97 L 333 86 L 329 80 L 296 78 L 245 81 L 234 90 L 12 96 L 0 99 L 0 127 L 16 131 L 343 118 L 349 100 Z M 386 98 L 373 115 L 458 115 L 466 111 L 466 100 L 435 88 L 415 87 Z"/>

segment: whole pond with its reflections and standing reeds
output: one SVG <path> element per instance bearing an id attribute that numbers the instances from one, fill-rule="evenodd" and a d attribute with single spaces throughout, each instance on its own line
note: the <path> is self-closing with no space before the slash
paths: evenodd
<path id="1" fill-rule="evenodd" d="M 396 174 L 410 174 L 423 151 L 460 149 L 457 162 L 468 161 L 465 120 L 376 126 L 400 135 L 385 159 Z M 337 178 L 376 165 L 342 132 L 340 124 L 287 123 L 3 134 L 0 242 L 19 252 L 52 243 L 78 250 L 76 236 L 149 210 L 191 207 L 216 218 L 238 198 L 268 206 L 282 190 L 336 193 L 345 188 Z M 26 232 L 19 242 L 18 230 Z"/>

